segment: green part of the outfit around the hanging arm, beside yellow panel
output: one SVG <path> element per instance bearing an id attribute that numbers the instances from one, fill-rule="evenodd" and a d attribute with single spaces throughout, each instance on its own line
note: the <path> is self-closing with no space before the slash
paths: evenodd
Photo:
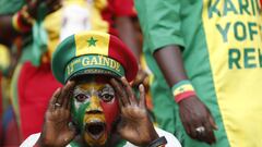
<path id="1" fill-rule="evenodd" d="M 219 132 L 215 132 L 218 143 L 212 147 L 228 147 L 229 143 L 214 91 L 202 26 L 202 1 L 135 0 L 135 8 L 144 34 L 143 51 L 154 74 L 151 91 L 153 111 L 159 127 L 174 133 L 183 147 L 210 147 L 207 144 L 191 139 L 184 132 L 171 89 L 153 57 L 160 47 L 179 45 L 183 49 L 182 57 L 187 74 L 198 96 L 210 108 L 219 127 Z"/>

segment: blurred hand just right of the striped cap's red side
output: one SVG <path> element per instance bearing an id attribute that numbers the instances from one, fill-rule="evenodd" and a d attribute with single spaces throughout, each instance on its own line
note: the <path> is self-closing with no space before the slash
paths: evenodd
<path id="1" fill-rule="evenodd" d="M 140 84 L 143 84 L 145 87 L 145 91 L 148 90 L 150 87 L 150 77 L 145 70 L 143 70 L 141 66 L 139 68 L 139 72 L 134 81 L 132 82 L 131 86 L 133 88 L 139 87 Z"/>

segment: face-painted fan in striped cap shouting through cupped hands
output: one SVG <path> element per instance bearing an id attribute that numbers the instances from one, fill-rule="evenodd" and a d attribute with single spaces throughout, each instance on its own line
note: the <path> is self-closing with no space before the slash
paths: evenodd
<path id="1" fill-rule="evenodd" d="M 50 99 L 39 147 L 159 144 L 144 86 L 136 98 L 129 84 L 138 73 L 136 60 L 117 37 L 98 32 L 68 37 L 53 53 L 52 73 L 64 86 Z"/>

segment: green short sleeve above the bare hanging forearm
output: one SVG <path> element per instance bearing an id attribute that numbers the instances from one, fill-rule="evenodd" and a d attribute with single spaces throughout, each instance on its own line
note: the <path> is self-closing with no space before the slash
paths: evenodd
<path id="1" fill-rule="evenodd" d="M 135 0 L 144 44 L 152 53 L 168 45 L 184 46 L 180 8 L 180 0 Z"/>

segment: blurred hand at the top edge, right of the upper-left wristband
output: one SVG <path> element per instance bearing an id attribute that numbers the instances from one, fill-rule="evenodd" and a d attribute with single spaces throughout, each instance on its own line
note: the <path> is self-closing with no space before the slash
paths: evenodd
<path id="1" fill-rule="evenodd" d="M 32 17 L 37 19 L 37 11 L 41 3 L 46 3 L 47 14 L 62 7 L 62 0 L 27 0 L 27 11 Z"/>

